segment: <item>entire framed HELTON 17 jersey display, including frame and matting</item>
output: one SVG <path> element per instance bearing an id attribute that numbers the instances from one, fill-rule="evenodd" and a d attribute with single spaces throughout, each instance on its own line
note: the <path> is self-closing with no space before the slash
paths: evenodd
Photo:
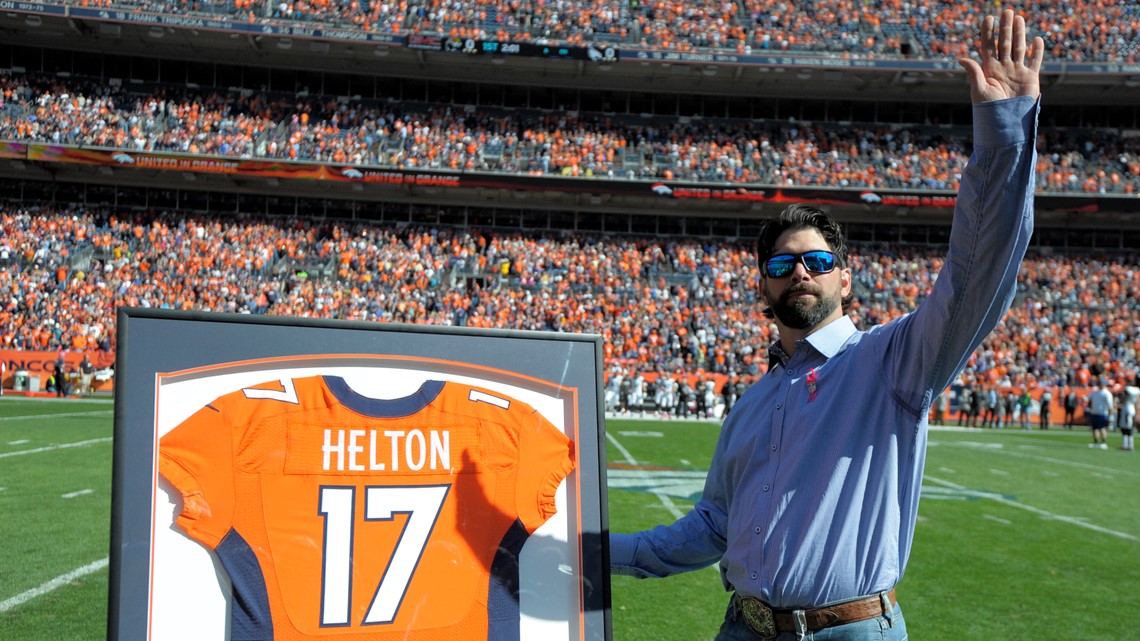
<path id="1" fill-rule="evenodd" d="M 119 320 L 108 639 L 610 638 L 598 336 Z"/>

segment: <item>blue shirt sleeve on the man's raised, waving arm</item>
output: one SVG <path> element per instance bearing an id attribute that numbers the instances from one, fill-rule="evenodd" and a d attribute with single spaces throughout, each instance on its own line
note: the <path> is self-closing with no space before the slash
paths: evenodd
<path id="1" fill-rule="evenodd" d="M 879 334 L 889 389 L 926 411 L 1009 310 L 1033 234 L 1040 102 L 974 105 L 974 153 L 959 187 L 950 251 L 929 298 Z"/>

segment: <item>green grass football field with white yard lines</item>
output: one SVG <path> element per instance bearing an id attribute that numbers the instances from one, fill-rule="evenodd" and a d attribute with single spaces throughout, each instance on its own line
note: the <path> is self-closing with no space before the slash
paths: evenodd
<path id="1" fill-rule="evenodd" d="M 0 640 L 106 638 L 113 406 L 0 398 Z M 610 420 L 610 526 L 692 505 L 715 422 Z M 934 429 L 906 577 L 914 640 L 1132 640 L 1140 628 L 1140 455 L 1086 431 Z M 138 453 L 149 456 L 149 453 Z M 614 577 L 617 641 L 709 640 L 715 569 Z"/>

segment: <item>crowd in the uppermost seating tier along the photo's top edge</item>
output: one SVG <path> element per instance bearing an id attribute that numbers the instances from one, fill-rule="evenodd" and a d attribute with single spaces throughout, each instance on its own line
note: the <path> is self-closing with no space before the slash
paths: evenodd
<path id="1" fill-rule="evenodd" d="M 84 6 L 242 23 L 306 23 L 377 34 L 515 42 L 605 43 L 673 51 L 795 51 L 837 57 L 956 58 L 972 41 L 977 5 L 961 0 L 70 0 Z M 1033 2 L 1028 27 L 1047 56 L 1135 63 L 1140 10 L 1127 0 Z"/>

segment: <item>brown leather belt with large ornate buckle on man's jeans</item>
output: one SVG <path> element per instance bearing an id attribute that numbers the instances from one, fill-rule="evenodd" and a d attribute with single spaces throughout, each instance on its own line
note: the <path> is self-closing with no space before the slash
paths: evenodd
<path id="1" fill-rule="evenodd" d="M 744 617 L 744 625 L 760 639 L 775 639 L 781 632 L 796 632 L 800 625 L 805 632 L 815 632 L 824 627 L 888 615 L 897 602 L 894 590 L 874 597 L 806 610 L 777 610 L 755 597 L 740 594 L 734 595 L 733 601 L 736 611 Z M 890 605 L 886 605 L 886 601 Z"/>

